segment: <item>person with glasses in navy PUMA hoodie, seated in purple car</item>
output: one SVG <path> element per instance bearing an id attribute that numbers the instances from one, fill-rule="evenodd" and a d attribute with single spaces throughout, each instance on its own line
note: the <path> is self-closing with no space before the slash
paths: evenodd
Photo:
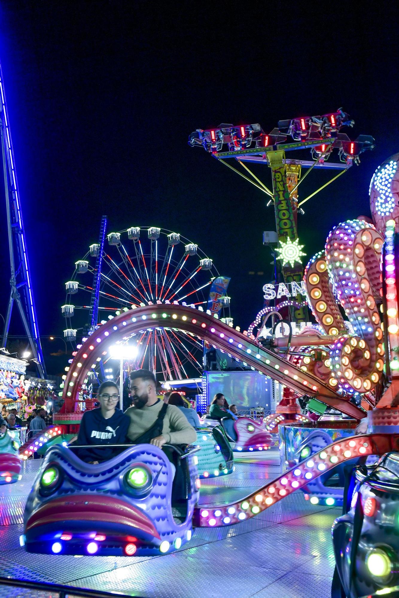
<path id="1" fill-rule="evenodd" d="M 100 461 L 112 459 L 120 451 L 107 444 L 125 444 L 129 417 L 115 409 L 119 401 L 119 389 L 115 382 L 103 382 L 98 389 L 100 407 L 83 414 L 77 445 L 95 444 L 93 449 L 79 449 L 78 457 L 97 465 Z"/>

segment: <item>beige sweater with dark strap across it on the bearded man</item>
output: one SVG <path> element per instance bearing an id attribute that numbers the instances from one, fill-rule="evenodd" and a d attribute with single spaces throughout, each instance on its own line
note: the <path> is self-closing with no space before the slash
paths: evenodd
<path id="1" fill-rule="evenodd" d="M 144 434 L 155 422 L 163 401 L 159 400 L 150 407 L 129 407 L 125 411 L 130 417 L 130 426 L 127 436 L 134 443 L 135 439 Z M 188 422 L 184 414 L 176 405 L 167 405 L 163 420 L 162 435 L 169 444 L 191 444 L 197 440 L 197 432 Z"/>

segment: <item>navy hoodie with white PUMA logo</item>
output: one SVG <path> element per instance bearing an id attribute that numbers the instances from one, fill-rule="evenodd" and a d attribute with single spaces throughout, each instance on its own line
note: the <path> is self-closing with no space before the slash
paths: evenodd
<path id="1" fill-rule="evenodd" d="M 120 410 L 109 419 L 101 414 L 101 409 L 93 409 L 83 414 L 78 440 L 76 444 L 100 444 L 96 449 L 80 449 L 78 457 L 83 461 L 106 461 L 112 459 L 120 451 L 107 444 L 126 444 L 126 434 L 129 428 L 130 417 Z M 129 443 L 129 441 L 127 441 Z M 130 443 L 129 443 L 130 444 Z"/>

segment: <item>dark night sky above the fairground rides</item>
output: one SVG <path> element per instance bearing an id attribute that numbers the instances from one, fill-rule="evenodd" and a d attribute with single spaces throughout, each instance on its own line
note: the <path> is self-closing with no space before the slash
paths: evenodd
<path id="1" fill-rule="evenodd" d="M 307 257 L 334 224 L 369 215 L 370 178 L 398 151 L 398 14 L 390 2 L 275 5 L 2 4 L 0 58 L 42 334 L 62 334 L 64 283 L 103 213 L 109 230 L 140 222 L 197 242 L 232 276 L 234 324 L 254 319 L 272 277 L 262 232 L 275 227 L 274 213 L 255 187 L 188 147 L 196 128 L 269 131 L 280 119 L 343 106 L 355 120 L 346 132 L 373 135 L 377 147 L 304 206 Z M 266 167 L 257 174 L 270 186 Z M 313 171 L 301 197 L 327 178 Z M 4 216 L 3 203 L 3 314 Z"/>

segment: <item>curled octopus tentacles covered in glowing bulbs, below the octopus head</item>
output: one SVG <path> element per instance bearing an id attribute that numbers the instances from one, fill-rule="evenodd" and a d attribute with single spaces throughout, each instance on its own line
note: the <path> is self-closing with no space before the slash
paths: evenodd
<path id="1" fill-rule="evenodd" d="M 381 301 L 382 247 L 382 236 L 373 224 L 342 222 L 327 237 L 325 255 L 316 254 L 304 274 L 313 315 L 326 335 L 338 335 L 325 362 L 331 370 L 326 382 L 349 394 L 370 392 L 382 376 L 383 333 L 376 304 Z M 352 335 L 345 329 L 337 301 L 349 318 Z"/>

